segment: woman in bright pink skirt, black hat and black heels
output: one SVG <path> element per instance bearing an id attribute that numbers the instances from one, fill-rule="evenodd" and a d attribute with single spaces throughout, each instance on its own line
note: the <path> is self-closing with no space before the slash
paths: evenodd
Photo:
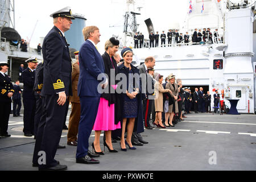
<path id="1" fill-rule="evenodd" d="M 114 76 L 117 75 L 117 62 L 114 59 L 115 53 L 119 48 L 119 40 L 115 38 L 109 39 L 105 43 L 105 53 L 102 55 L 102 59 L 105 64 L 105 73 L 108 75 L 108 82 L 110 84 L 110 80 L 115 78 L 110 77 L 110 70 L 112 69 L 115 73 Z M 104 92 L 101 95 L 100 104 L 98 106 L 98 113 L 96 117 L 96 121 L 93 126 L 93 130 L 95 131 L 94 142 L 92 143 L 93 150 L 96 154 L 104 155 L 100 148 L 100 134 L 101 131 L 105 131 L 106 140 L 104 140 L 104 150 L 105 147 L 108 148 L 109 152 L 117 152 L 113 149 L 112 146 L 112 131 L 116 129 L 121 129 L 120 117 L 118 115 L 117 109 L 117 97 L 115 94 L 115 89 L 117 85 L 108 85 L 106 90 L 108 93 Z"/>

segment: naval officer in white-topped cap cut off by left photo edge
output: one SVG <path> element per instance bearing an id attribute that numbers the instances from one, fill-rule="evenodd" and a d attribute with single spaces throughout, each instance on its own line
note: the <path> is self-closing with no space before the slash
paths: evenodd
<path id="1" fill-rule="evenodd" d="M 8 122 L 11 113 L 11 97 L 14 94 L 11 78 L 5 73 L 9 69 L 9 64 L 0 62 L 0 136 L 10 137 L 7 133 Z"/>

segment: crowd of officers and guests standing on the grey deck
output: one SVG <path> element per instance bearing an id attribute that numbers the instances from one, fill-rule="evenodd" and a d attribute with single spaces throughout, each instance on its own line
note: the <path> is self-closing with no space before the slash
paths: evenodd
<path id="1" fill-rule="evenodd" d="M 132 64 L 133 50 L 123 48 L 123 61 L 119 63 L 119 40 L 115 38 L 106 41 L 105 53 L 100 55 L 97 44 L 101 34 L 96 26 L 82 30 L 85 42 L 80 51 L 74 52 L 76 62 L 72 64 L 64 33 L 75 18 L 67 8 L 51 16 L 54 26 L 44 38 L 44 61 L 38 64 L 33 56 L 26 61 L 28 67 L 22 72 L 23 133 L 26 137 L 34 135 L 36 139 L 33 167 L 43 171 L 67 169 L 54 158 L 57 148 L 65 148 L 59 142 L 69 102 L 72 111 L 67 144 L 76 147 L 76 163 L 82 164 L 98 164 L 100 161 L 94 158 L 106 154 L 100 146 L 102 131 L 104 151 L 106 147 L 109 152 L 117 153 L 112 143 L 119 140 L 120 150 L 126 152 L 127 147 L 136 150 L 134 146 L 148 143 L 141 135 L 144 128 L 152 129 L 152 125 L 174 127 L 182 121 L 185 117 L 183 103 L 185 114 L 190 112 L 192 101 L 196 112 L 197 108 L 201 112 L 205 108 L 210 111 L 211 96 L 204 94 L 203 88 L 196 89 L 192 97 L 189 88 L 183 88 L 181 79 L 176 79 L 173 74 L 163 83 L 163 76 L 154 71 L 154 57 L 148 56 L 143 64 L 135 67 Z M 5 74 L 9 65 L 0 63 L 0 66 L 0 114 L 4 118 L 1 120 L 1 136 L 10 137 L 7 126 L 11 97 L 15 100 L 14 93 L 20 94 L 21 90 L 18 80 L 13 86 Z M 14 115 L 19 115 L 19 109 L 14 110 Z M 89 137 L 92 130 L 95 138 L 91 152 Z"/>

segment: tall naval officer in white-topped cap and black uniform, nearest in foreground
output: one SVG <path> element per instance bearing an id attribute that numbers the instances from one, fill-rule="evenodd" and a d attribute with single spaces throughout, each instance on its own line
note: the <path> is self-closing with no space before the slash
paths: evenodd
<path id="1" fill-rule="evenodd" d="M 38 155 L 39 170 L 65 170 L 55 158 L 59 145 L 67 96 L 72 96 L 71 55 L 64 32 L 71 28 L 71 9 L 65 7 L 53 13 L 54 27 L 43 41 L 44 78 L 41 92 L 43 102 L 42 121 L 38 127 L 34 156 Z M 40 147 L 38 149 L 38 146 Z M 39 151 L 39 152 L 37 152 Z M 43 152 L 42 152 L 43 151 Z"/>

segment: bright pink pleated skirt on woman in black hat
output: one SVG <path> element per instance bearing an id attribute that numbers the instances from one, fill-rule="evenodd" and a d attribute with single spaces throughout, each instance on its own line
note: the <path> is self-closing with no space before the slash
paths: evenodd
<path id="1" fill-rule="evenodd" d="M 112 104 L 109 106 L 109 101 L 105 100 L 105 98 L 101 98 L 93 130 L 113 131 L 116 129 L 121 129 L 121 123 L 118 122 L 118 124 L 115 125 L 115 105 Z"/>

